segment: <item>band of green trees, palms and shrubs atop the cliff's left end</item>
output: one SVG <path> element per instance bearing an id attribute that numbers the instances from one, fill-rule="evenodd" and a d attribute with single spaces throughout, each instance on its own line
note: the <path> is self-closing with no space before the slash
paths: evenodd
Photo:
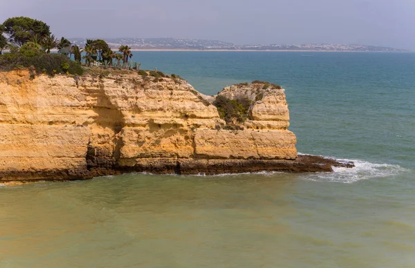
<path id="1" fill-rule="evenodd" d="M 50 53 L 54 48 L 58 53 Z M 5 49 L 9 52 L 1 55 Z M 83 49 L 65 37 L 59 41 L 46 23 L 29 17 L 12 17 L 0 24 L 0 70 L 30 68 L 38 74 L 82 75 L 84 65 L 140 71 L 141 64 L 131 61 L 132 56 L 129 46 L 114 52 L 102 39 L 87 39 Z M 164 77 L 161 74 L 155 76 Z"/>

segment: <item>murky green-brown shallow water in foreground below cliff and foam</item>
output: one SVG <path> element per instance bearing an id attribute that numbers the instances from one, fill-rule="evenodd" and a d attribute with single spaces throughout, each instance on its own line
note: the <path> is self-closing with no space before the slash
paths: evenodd
<path id="1" fill-rule="evenodd" d="M 129 174 L 8 187 L 0 264 L 414 267 L 415 184 L 405 176 Z"/>

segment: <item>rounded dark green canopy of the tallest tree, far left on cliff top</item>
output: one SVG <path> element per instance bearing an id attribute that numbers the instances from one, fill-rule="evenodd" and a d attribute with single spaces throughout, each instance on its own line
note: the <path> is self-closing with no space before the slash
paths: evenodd
<path id="1" fill-rule="evenodd" d="M 10 41 L 23 46 L 34 36 L 44 39 L 50 35 L 50 27 L 43 21 L 28 17 L 12 17 L 3 22 L 3 32 Z"/>

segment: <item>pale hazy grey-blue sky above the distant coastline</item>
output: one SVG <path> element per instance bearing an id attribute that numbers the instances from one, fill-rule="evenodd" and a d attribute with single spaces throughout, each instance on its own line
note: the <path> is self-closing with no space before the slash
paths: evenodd
<path id="1" fill-rule="evenodd" d="M 16 16 L 45 21 L 57 37 L 176 37 L 415 50 L 415 0 L 1 0 L 0 21 Z"/>

